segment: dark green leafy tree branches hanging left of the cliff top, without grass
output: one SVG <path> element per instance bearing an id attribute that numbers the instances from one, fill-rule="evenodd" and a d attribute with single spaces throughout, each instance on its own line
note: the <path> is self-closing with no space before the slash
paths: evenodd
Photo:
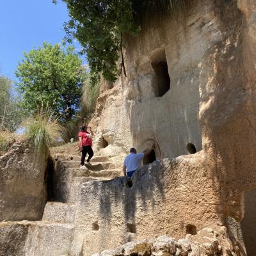
<path id="1" fill-rule="evenodd" d="M 121 32 L 138 31 L 132 21 L 131 1 L 64 1 L 71 17 L 65 24 L 68 39 L 79 40 L 93 73 L 102 72 L 105 79 L 115 81 Z"/>

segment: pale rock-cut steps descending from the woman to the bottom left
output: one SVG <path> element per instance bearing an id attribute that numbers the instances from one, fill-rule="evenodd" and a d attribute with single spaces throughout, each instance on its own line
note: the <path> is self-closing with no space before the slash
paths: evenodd
<path id="1" fill-rule="evenodd" d="M 5 234 L 3 231 L 4 236 L 13 236 L 12 232 L 20 232 L 17 236 L 24 238 L 22 240 L 24 243 L 15 245 L 20 248 L 8 256 L 71 255 L 77 211 L 76 202 L 78 202 L 81 185 L 90 180 L 110 180 L 122 175 L 122 166 L 119 166 L 119 169 L 116 168 L 117 164 L 110 162 L 108 157 L 95 156 L 92 159 L 92 165 L 86 164 L 86 168 L 79 168 L 80 159 L 80 156 L 73 155 L 52 157 L 54 170 L 51 170 L 50 177 L 52 180 L 51 202 L 45 205 L 42 221 L 4 223 L 10 226 L 9 231 L 13 230 L 10 234 Z M 18 231 L 17 227 L 19 227 Z"/>

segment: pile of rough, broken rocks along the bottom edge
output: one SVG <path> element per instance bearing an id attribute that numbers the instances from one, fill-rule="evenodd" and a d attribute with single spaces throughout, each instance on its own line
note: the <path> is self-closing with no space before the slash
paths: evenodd
<path id="1" fill-rule="evenodd" d="M 94 253 L 93 256 L 206 256 L 241 255 L 227 237 L 227 228 L 204 228 L 195 236 L 188 234 L 185 239 L 159 236 L 156 239 L 134 241 L 113 250 Z M 243 254 L 242 254 L 243 255 Z"/>

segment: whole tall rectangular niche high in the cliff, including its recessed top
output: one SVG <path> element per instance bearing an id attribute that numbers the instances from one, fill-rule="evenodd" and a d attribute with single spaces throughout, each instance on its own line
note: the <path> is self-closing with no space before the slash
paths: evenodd
<path id="1" fill-rule="evenodd" d="M 154 54 L 151 60 L 151 65 L 156 78 L 156 84 L 154 84 L 156 88 L 155 95 L 156 97 L 162 97 L 168 90 L 170 90 L 171 83 L 164 49 Z"/>

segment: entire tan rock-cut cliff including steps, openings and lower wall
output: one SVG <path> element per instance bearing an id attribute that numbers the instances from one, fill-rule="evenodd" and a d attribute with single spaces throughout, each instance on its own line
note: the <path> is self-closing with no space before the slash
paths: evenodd
<path id="1" fill-rule="evenodd" d="M 253 204 L 256 188 L 255 13 L 254 0 L 195 1 L 179 19 L 152 19 L 126 38 L 127 78 L 102 83 L 91 122 L 93 166 L 53 156 L 54 202 L 42 221 L 3 221 L 1 255 L 92 255 L 143 239 L 153 239 L 145 255 L 172 255 L 169 242 L 167 254 L 155 250 L 163 235 L 197 246 L 182 252 L 175 242 L 176 255 L 245 255 L 253 220 L 239 221 L 244 209 L 253 216 L 244 193 Z M 129 148 L 152 142 L 145 166 L 131 180 L 118 177 Z M 225 225 L 218 237 L 205 229 Z M 253 237 L 244 241 L 248 256 Z M 129 255 L 123 249 L 100 255 Z"/>

